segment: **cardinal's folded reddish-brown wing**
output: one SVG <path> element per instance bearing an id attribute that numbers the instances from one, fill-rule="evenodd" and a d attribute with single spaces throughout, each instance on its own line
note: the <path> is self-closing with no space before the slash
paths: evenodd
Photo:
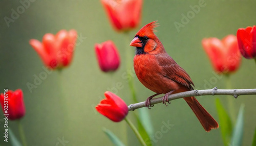
<path id="1" fill-rule="evenodd" d="M 168 54 L 159 54 L 156 55 L 156 58 L 159 65 L 162 67 L 161 74 L 165 78 L 178 82 L 190 90 L 194 90 L 192 87 L 192 85 L 194 86 L 194 83 L 190 79 L 189 75 L 174 61 L 172 57 Z"/>

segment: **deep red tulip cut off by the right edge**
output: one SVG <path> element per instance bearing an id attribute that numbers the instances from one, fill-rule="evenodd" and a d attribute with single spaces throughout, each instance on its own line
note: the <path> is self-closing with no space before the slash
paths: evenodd
<path id="1" fill-rule="evenodd" d="M 238 29 L 237 32 L 238 45 L 241 54 L 247 58 L 256 57 L 256 27 L 247 27 L 246 29 Z"/>

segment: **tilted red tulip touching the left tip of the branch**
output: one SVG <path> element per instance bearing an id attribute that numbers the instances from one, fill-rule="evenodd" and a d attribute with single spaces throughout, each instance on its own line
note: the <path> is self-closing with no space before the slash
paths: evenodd
<path id="1" fill-rule="evenodd" d="M 124 119 L 128 114 L 128 107 L 125 102 L 110 91 L 106 91 L 104 95 L 106 98 L 95 107 L 96 110 L 115 122 Z"/>

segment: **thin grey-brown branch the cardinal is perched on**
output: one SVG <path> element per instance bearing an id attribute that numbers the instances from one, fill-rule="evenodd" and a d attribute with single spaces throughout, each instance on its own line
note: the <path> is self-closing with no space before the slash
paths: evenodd
<path id="1" fill-rule="evenodd" d="M 186 91 L 186 92 L 181 92 L 181 93 L 176 93 L 176 94 L 170 94 L 168 96 L 169 101 L 172 100 L 177 100 L 181 98 L 186 98 L 190 96 L 201 96 L 201 95 L 232 95 L 234 98 L 238 98 L 239 95 L 255 95 L 256 94 L 256 89 L 218 89 L 217 87 L 213 89 L 207 89 L 207 90 L 191 90 L 191 91 Z M 152 99 L 151 104 L 158 104 L 162 103 L 162 97 Z M 136 110 L 138 108 L 145 107 L 145 102 L 140 102 L 136 104 L 131 104 L 128 106 L 129 111 L 131 110 Z"/>

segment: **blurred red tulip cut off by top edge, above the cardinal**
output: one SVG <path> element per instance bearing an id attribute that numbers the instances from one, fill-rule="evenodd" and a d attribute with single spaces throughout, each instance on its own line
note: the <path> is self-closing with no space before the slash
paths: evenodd
<path id="1" fill-rule="evenodd" d="M 101 3 L 116 30 L 125 31 L 138 26 L 142 0 L 101 0 Z"/>

